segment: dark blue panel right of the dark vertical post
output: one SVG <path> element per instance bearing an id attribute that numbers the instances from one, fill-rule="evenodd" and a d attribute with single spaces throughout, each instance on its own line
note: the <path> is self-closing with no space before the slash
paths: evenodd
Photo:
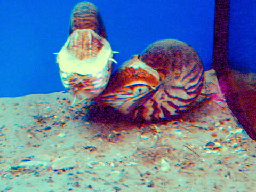
<path id="1" fill-rule="evenodd" d="M 231 68 L 256 73 L 256 1 L 230 1 L 228 61 Z"/>

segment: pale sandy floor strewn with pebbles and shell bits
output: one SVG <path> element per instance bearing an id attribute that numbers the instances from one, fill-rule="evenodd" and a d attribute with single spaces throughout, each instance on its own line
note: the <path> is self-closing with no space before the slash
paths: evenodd
<path id="1" fill-rule="evenodd" d="M 71 95 L 0 98 L 0 191 L 256 191 L 256 142 L 217 93 L 170 122 L 88 118 Z"/>

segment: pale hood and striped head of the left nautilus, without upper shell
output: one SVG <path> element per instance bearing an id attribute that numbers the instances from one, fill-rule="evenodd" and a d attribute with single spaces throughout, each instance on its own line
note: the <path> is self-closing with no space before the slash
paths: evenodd
<path id="1" fill-rule="evenodd" d="M 77 29 L 57 53 L 63 86 L 74 103 L 97 97 L 111 75 L 113 52 L 108 41 L 91 29 Z"/>

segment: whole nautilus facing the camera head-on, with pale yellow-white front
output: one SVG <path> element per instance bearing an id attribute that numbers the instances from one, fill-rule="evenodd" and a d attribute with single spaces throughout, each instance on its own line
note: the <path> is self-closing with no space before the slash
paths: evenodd
<path id="1" fill-rule="evenodd" d="M 74 95 L 74 103 L 97 97 L 107 86 L 113 52 L 97 7 L 78 3 L 71 13 L 69 37 L 57 54 L 64 87 Z"/>

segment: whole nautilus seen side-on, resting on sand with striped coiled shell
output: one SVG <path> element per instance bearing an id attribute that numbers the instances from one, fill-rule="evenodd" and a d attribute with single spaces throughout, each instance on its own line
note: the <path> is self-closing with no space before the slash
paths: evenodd
<path id="1" fill-rule="evenodd" d="M 203 64 L 193 47 L 164 39 L 123 63 L 95 101 L 133 119 L 158 121 L 194 106 L 203 82 Z"/>

